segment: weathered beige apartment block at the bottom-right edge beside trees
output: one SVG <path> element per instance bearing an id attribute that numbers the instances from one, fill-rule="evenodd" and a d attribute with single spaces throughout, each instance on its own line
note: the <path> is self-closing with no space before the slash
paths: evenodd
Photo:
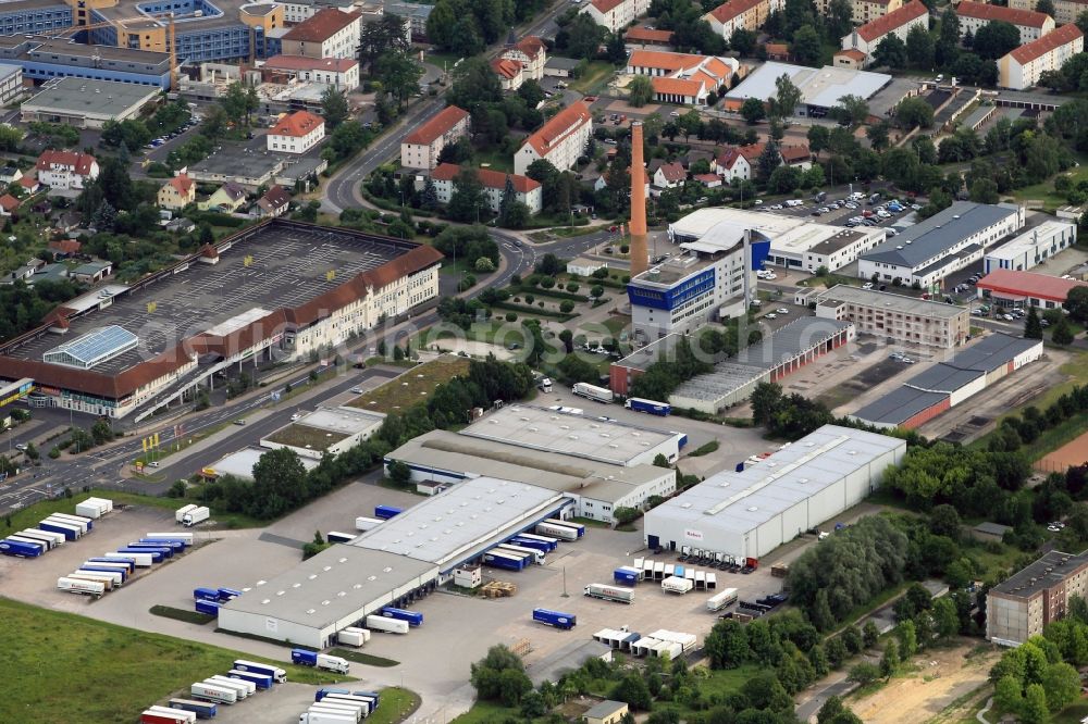
<path id="1" fill-rule="evenodd" d="M 1088 554 L 1050 551 L 987 592 L 986 639 L 1018 646 L 1062 619 L 1071 597 L 1086 594 Z"/>

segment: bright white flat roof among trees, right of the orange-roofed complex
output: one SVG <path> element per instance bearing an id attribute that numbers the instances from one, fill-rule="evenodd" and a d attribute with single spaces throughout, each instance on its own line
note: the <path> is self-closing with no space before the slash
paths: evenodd
<path id="1" fill-rule="evenodd" d="M 726 93 L 726 98 L 744 100 L 758 98 L 766 101 L 777 92 L 775 80 L 786 75 L 801 90 L 801 102 L 820 108 L 838 105 L 843 96 L 868 99 L 891 83 L 891 76 L 825 65 L 820 68 L 764 63 L 749 73 L 744 80 Z"/>

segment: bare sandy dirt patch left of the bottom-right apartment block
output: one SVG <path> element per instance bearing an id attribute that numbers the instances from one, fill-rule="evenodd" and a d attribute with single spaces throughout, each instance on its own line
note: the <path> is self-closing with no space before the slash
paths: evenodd
<path id="1" fill-rule="evenodd" d="M 990 667 L 1001 658 L 994 650 L 968 659 L 975 646 L 965 642 L 915 657 L 912 663 L 917 671 L 893 678 L 879 691 L 851 701 L 850 707 L 866 724 L 912 724 L 937 716 L 985 686 Z"/>

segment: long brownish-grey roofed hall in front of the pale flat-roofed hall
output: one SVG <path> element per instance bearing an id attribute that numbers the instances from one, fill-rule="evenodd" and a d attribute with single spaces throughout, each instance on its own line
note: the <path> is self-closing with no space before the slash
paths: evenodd
<path id="1" fill-rule="evenodd" d="M 653 465 L 611 465 L 558 452 L 528 451 L 506 442 L 432 430 L 405 442 L 386 458 L 450 473 L 528 483 L 597 500 L 619 500 L 660 479 Z"/>

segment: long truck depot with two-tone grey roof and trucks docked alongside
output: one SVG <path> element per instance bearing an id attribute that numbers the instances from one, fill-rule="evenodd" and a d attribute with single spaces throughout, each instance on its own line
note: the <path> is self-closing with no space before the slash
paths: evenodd
<path id="1" fill-rule="evenodd" d="M 555 490 L 479 477 L 409 508 L 304 561 L 255 582 L 219 610 L 219 626 L 239 634 L 325 648 L 336 632 L 384 606 L 405 606 L 452 579 L 510 536 L 561 514 Z"/>

